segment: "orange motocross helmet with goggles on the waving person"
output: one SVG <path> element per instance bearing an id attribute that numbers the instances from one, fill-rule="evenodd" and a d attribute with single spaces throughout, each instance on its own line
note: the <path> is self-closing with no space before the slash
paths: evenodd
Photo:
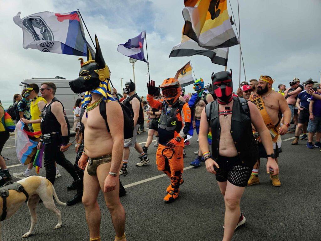
<path id="1" fill-rule="evenodd" d="M 160 89 L 165 101 L 169 105 L 173 105 L 178 101 L 180 95 L 180 84 L 178 80 L 174 78 L 165 79 L 160 85 Z"/>

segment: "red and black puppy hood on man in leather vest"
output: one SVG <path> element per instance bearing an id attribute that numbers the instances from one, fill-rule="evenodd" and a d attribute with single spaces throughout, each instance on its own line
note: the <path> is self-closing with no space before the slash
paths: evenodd
<path id="1" fill-rule="evenodd" d="M 212 84 L 217 101 L 220 104 L 230 103 L 233 99 L 232 70 L 212 73 Z"/>

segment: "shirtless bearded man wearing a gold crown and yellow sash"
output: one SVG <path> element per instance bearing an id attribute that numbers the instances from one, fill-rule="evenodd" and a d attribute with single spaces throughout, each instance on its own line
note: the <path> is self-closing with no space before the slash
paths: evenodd
<path id="1" fill-rule="evenodd" d="M 252 101 L 256 107 L 259 109 L 260 114 L 263 117 L 266 127 L 269 129 L 272 140 L 273 140 L 273 151 L 272 157 L 275 158 L 276 163 L 278 163 L 279 153 L 282 152 L 281 136 L 286 134 L 290 126 L 289 122 L 291 119 L 291 111 L 288 107 L 288 103 L 284 97 L 272 90 L 272 84 L 274 80 L 270 76 L 263 76 L 259 78 L 257 92 L 256 94 L 251 95 L 250 101 Z M 280 127 L 280 115 L 279 112 L 282 112 L 283 119 L 286 124 Z M 262 139 L 262 137 L 261 137 Z M 253 167 L 252 174 L 248 180 L 247 185 L 251 186 L 253 184 L 260 183 L 258 177 L 258 171 L 260 167 L 260 158 L 266 158 L 266 154 L 262 143 L 259 143 L 259 159 Z M 273 186 L 281 186 L 279 176 L 273 175 L 273 171 L 270 171 L 270 178 L 272 180 Z"/>

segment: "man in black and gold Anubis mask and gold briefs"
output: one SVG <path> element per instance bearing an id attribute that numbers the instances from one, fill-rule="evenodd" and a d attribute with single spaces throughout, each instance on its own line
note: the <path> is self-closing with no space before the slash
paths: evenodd
<path id="1" fill-rule="evenodd" d="M 82 117 L 85 146 L 78 162 L 79 168 L 85 169 L 82 203 L 86 210 L 90 240 L 100 241 L 101 214 L 97 197 L 101 189 L 116 232 L 115 240 L 125 241 L 125 210 L 118 195 L 124 115 L 120 104 L 110 94 L 110 72 L 102 57 L 97 36 L 95 60 L 92 56 L 87 50 L 87 61 L 82 60 L 79 78 L 69 82 L 74 93 L 87 91 L 83 102 L 88 105 Z M 106 105 L 110 132 L 100 114 L 100 103 Z"/>

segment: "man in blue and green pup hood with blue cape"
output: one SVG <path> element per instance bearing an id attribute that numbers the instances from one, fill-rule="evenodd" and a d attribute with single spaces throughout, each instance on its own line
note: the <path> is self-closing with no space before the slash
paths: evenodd
<path id="1" fill-rule="evenodd" d="M 189 108 L 191 109 L 191 116 L 193 117 L 193 130 L 196 129 L 197 135 L 200 130 L 201 114 L 207 103 L 210 103 L 213 100 L 213 96 L 209 94 L 207 90 L 204 89 L 204 80 L 202 78 L 195 80 L 193 89 L 196 91 L 195 94 L 191 97 L 191 100 L 188 102 Z M 190 163 L 192 166 L 201 166 L 203 153 L 200 146 L 198 147 L 198 154 L 194 161 Z M 204 161 L 204 159 L 202 160 Z"/>

